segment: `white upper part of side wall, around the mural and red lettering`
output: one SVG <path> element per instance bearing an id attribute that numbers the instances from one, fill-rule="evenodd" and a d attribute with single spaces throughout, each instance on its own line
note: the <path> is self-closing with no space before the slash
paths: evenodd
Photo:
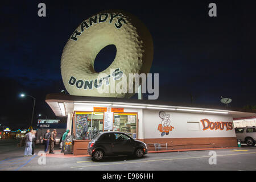
<path id="1" fill-rule="evenodd" d="M 197 113 L 176 113 L 165 111 L 170 114 L 170 125 L 174 127 L 169 135 L 161 137 L 161 132 L 158 130 L 162 120 L 159 117 L 159 110 L 144 110 L 144 138 L 202 138 L 202 137 L 236 137 L 234 127 L 232 130 L 204 130 L 201 119 L 209 119 L 210 122 L 232 122 L 233 118 L 229 115 L 216 114 L 197 114 Z M 191 123 L 188 123 L 191 122 Z M 206 125 L 206 123 L 205 123 Z"/>

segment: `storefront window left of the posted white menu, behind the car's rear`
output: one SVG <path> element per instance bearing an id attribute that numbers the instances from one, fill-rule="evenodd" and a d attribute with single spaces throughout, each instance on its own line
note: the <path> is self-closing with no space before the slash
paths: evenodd
<path id="1" fill-rule="evenodd" d="M 102 112 L 75 112 L 76 139 L 93 139 L 103 131 Z"/>

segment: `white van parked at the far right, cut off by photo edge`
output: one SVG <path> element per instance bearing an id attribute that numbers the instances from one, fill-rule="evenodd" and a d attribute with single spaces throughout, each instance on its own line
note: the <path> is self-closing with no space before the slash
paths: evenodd
<path id="1" fill-rule="evenodd" d="M 256 141 L 256 127 L 236 127 L 235 128 L 237 139 L 241 140 L 242 143 L 246 143 L 247 146 L 254 146 Z"/>

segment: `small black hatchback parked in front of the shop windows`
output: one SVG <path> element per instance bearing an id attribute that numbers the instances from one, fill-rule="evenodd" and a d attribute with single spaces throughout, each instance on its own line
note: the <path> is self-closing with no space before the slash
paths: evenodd
<path id="1" fill-rule="evenodd" d="M 88 153 L 93 159 L 101 160 L 104 156 L 135 155 L 142 158 L 147 154 L 147 145 L 134 140 L 121 132 L 99 133 L 88 145 Z"/>

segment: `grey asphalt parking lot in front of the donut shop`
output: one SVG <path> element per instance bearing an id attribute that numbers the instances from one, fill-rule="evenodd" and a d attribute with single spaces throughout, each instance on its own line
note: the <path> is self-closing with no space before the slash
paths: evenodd
<path id="1" fill-rule="evenodd" d="M 56 149 L 58 146 L 55 146 Z M 36 154 L 43 146 L 36 146 Z M 55 158 L 23 157 L 24 147 L 15 142 L 0 142 L 1 171 L 255 171 L 256 146 L 236 149 L 164 152 L 144 155 L 142 159 L 127 156 L 105 158 L 94 162 L 91 157 Z"/>

